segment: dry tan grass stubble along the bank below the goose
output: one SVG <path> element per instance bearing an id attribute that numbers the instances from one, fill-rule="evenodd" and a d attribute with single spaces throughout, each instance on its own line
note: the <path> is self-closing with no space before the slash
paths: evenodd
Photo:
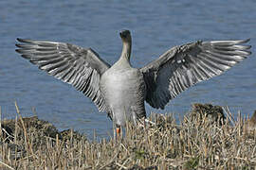
<path id="1" fill-rule="evenodd" d="M 253 169 L 256 134 L 227 112 L 227 119 L 218 121 L 188 114 L 181 124 L 172 115 L 153 115 L 155 125 L 128 123 L 122 137 L 101 142 L 63 134 L 38 119 L 36 124 L 13 120 L 10 129 L 2 122 L 0 168 Z"/>

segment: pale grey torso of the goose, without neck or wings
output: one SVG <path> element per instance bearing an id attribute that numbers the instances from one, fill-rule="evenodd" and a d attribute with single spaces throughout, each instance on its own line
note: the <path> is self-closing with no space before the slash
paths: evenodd
<path id="1" fill-rule="evenodd" d="M 111 67 L 101 76 L 100 87 L 109 115 L 117 125 L 146 116 L 145 82 L 138 69 Z"/>

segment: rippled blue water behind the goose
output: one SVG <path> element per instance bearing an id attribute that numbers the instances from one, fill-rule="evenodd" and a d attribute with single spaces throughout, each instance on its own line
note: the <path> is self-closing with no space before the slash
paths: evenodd
<path id="1" fill-rule="evenodd" d="M 193 102 L 228 105 L 233 112 L 256 110 L 256 1 L 0 1 L 0 106 L 3 117 L 33 114 L 60 129 L 73 127 L 100 136 L 112 132 L 105 113 L 71 86 L 47 76 L 14 52 L 15 39 L 71 42 L 92 47 L 110 63 L 119 59 L 119 30 L 133 36 L 134 66 L 141 67 L 170 47 L 196 40 L 251 38 L 253 54 L 229 72 L 197 84 L 166 110 L 183 115 Z"/>

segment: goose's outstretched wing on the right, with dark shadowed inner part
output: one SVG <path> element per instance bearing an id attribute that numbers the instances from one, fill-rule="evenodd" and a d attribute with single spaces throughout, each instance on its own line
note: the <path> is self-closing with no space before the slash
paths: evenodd
<path id="1" fill-rule="evenodd" d="M 192 42 L 175 46 L 140 71 L 146 82 L 146 101 L 154 108 L 166 104 L 193 84 L 219 76 L 246 59 L 250 46 L 239 41 Z"/>

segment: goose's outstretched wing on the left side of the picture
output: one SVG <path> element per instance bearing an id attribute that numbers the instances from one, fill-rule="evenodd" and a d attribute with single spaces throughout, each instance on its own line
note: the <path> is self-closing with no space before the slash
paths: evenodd
<path id="1" fill-rule="evenodd" d="M 49 75 L 72 84 L 98 106 L 106 110 L 99 89 L 100 76 L 110 67 L 92 49 L 64 42 L 17 39 L 16 52 Z"/>

